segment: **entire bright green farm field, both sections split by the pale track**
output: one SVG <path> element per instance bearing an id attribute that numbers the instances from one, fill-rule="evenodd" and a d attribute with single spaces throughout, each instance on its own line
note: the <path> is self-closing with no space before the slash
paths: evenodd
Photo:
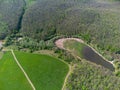
<path id="1" fill-rule="evenodd" d="M 15 56 L 36 90 L 61 90 L 67 64 L 47 55 L 15 51 Z M 0 90 L 32 90 L 11 52 L 5 52 L 0 60 L 0 73 Z"/>

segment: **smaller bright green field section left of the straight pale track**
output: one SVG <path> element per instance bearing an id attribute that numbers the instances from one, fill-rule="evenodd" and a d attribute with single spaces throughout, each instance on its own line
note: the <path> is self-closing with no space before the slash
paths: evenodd
<path id="1" fill-rule="evenodd" d="M 0 59 L 0 90 L 32 90 L 11 52 Z"/>

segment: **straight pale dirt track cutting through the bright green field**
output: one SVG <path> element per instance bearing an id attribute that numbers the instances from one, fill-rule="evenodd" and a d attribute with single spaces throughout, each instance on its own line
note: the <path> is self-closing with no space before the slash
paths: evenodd
<path id="1" fill-rule="evenodd" d="M 20 69 L 22 70 L 22 72 L 24 73 L 24 75 L 25 75 L 26 79 L 28 80 L 29 84 L 31 85 L 32 89 L 33 89 L 33 90 L 36 90 L 35 86 L 34 86 L 33 83 L 31 82 L 31 80 L 30 80 L 30 78 L 28 77 L 27 73 L 25 72 L 25 70 L 23 69 L 23 67 L 20 65 L 20 63 L 18 62 L 18 60 L 17 60 L 17 58 L 16 58 L 16 56 L 15 56 L 15 54 L 14 54 L 14 51 L 11 50 L 11 52 L 12 52 L 12 55 L 13 55 L 13 57 L 14 57 L 14 60 L 16 61 L 17 65 L 19 66 L 19 68 L 20 68 Z"/>

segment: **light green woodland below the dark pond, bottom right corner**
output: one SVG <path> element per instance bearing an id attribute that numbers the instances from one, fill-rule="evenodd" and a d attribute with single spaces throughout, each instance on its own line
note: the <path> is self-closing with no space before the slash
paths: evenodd
<path id="1" fill-rule="evenodd" d="M 103 67 L 78 61 L 67 82 L 67 90 L 119 90 L 120 79 Z"/>

